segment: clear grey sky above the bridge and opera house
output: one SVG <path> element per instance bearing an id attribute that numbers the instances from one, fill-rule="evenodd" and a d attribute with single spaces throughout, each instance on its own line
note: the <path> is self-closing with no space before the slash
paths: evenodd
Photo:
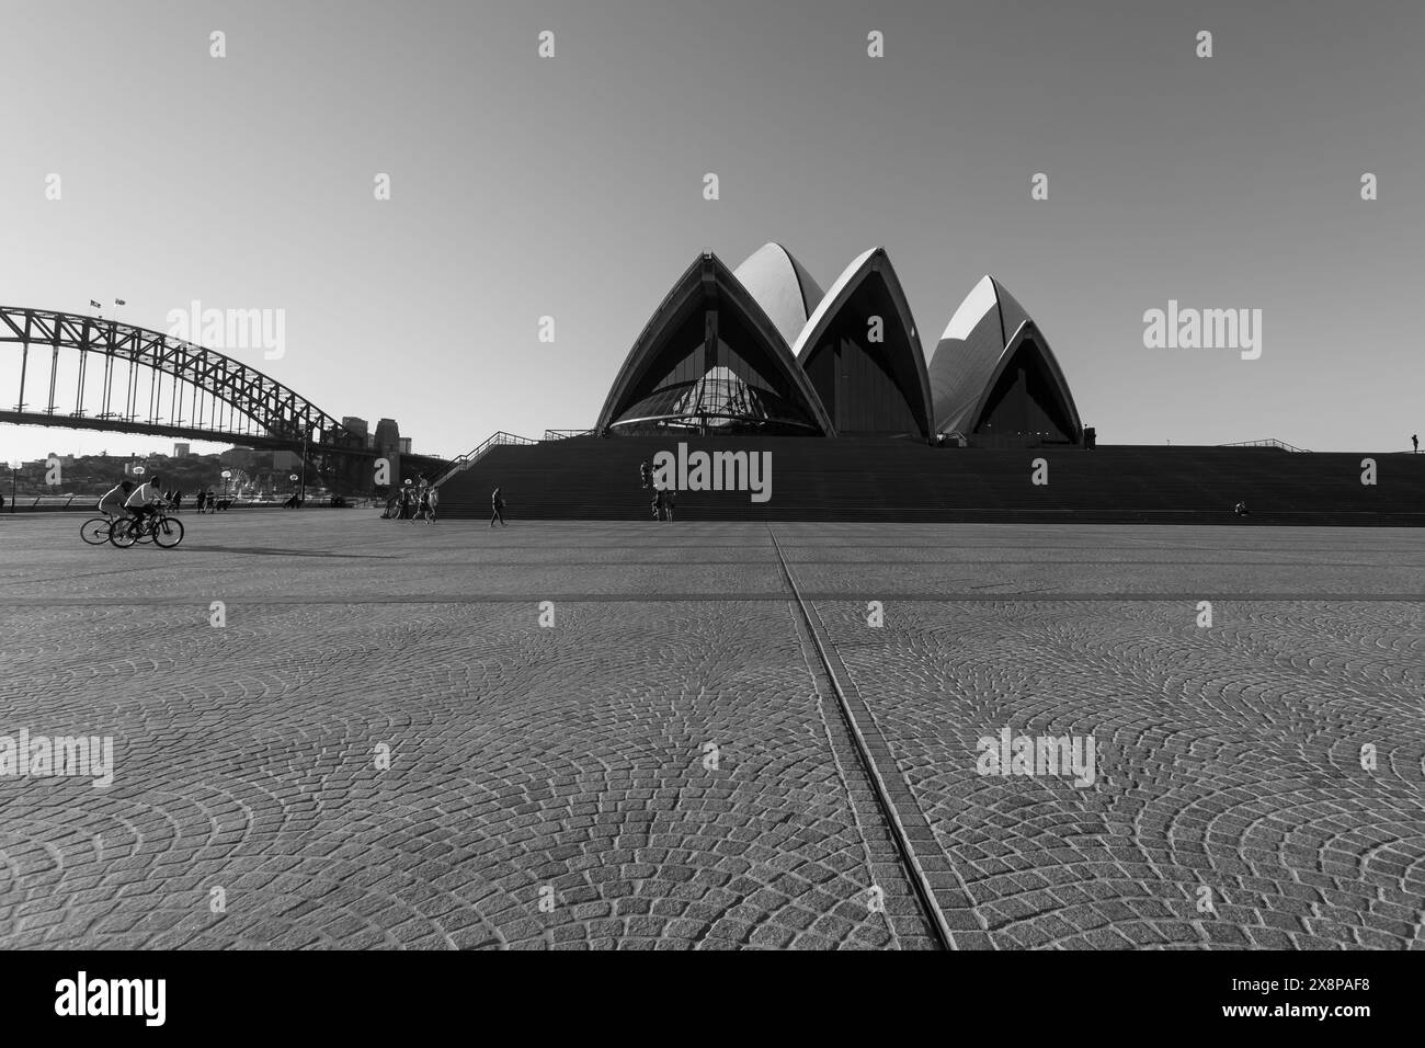
<path id="1" fill-rule="evenodd" d="M 1104 443 L 1425 431 L 1416 0 L 0 0 L 0 302 L 284 309 L 285 356 L 247 362 L 416 451 L 591 425 L 694 255 L 768 240 L 824 287 L 885 245 L 926 352 L 995 274 Z M 1168 299 L 1261 309 L 1261 358 L 1144 348 Z M 7 405 L 17 372 L 0 346 Z M 7 459 L 171 443 L 0 426 Z"/>

